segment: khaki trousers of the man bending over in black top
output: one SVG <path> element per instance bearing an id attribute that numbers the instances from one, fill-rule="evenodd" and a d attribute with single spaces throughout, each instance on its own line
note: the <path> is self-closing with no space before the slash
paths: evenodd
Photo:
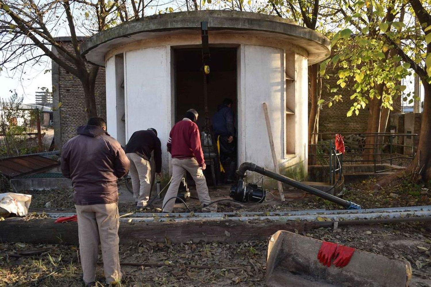
<path id="1" fill-rule="evenodd" d="M 138 207 L 145 207 L 151 192 L 151 164 L 134 152 L 126 156 L 130 160 L 129 174 L 132 179 L 133 197 Z"/>

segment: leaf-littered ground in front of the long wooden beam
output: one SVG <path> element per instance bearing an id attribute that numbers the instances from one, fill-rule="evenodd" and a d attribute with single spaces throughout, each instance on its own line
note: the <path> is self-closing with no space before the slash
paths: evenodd
<path id="1" fill-rule="evenodd" d="M 426 287 L 431 286 L 431 236 L 425 228 L 423 223 L 362 225 L 335 230 L 319 228 L 303 235 L 406 259 L 413 270 L 410 286 Z M 46 251 L 32 257 L 7 255 L 40 248 Z M 267 242 L 263 241 L 120 244 L 122 263 L 158 264 L 153 267 L 122 266 L 122 286 L 265 286 L 266 249 Z M 76 246 L 0 244 L 0 286 L 81 286 L 78 252 Z M 187 267 L 190 264 L 212 268 Z M 103 281 L 101 265 L 97 278 Z"/>

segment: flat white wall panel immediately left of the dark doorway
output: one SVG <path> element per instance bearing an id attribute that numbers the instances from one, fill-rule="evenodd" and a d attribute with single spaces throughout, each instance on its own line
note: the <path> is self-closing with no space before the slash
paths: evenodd
<path id="1" fill-rule="evenodd" d="M 162 142 L 162 170 L 168 170 L 166 151 L 171 130 L 171 55 L 169 46 L 125 53 L 126 139 L 153 127 Z"/>

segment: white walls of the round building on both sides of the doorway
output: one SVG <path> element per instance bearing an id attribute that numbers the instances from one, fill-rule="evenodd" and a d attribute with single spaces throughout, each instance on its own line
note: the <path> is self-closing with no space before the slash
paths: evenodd
<path id="1" fill-rule="evenodd" d="M 287 61 L 286 53 L 289 53 Z M 306 172 L 307 160 L 307 59 L 282 48 L 241 44 L 237 57 L 238 91 L 238 163 L 251 161 L 274 170 L 262 102 L 269 116 L 280 170 L 299 167 Z M 118 62 L 118 61 L 117 61 Z M 125 52 L 125 139 L 136 130 L 154 127 L 162 142 L 162 169 L 169 169 L 166 142 L 174 121 L 173 68 L 170 46 L 157 46 Z M 287 153 L 286 138 L 286 67 L 294 77 L 294 154 Z M 118 70 L 118 69 L 117 69 Z M 115 126 L 120 117 L 112 103 L 116 98 L 115 58 L 106 62 L 108 130 L 118 135 Z M 117 74 L 119 71 L 117 71 Z M 292 88 L 292 85 L 291 85 Z M 292 88 L 292 90 L 293 90 Z M 292 91 L 291 91 L 292 92 Z M 293 94 L 293 93 L 292 93 Z M 291 105 L 291 100 L 290 104 Z M 112 125 L 112 127 L 111 127 Z M 118 126 L 118 124 L 117 124 Z M 115 128 L 114 128 L 115 127 Z"/>

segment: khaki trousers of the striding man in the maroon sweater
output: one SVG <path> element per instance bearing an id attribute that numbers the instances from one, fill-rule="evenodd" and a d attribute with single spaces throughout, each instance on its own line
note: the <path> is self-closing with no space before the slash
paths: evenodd
<path id="1" fill-rule="evenodd" d="M 168 191 L 166 191 L 165 198 L 163 199 L 163 212 L 172 212 L 175 205 L 175 199 L 169 199 L 177 196 L 178 187 L 180 186 L 181 179 L 186 170 L 191 174 L 196 183 L 196 191 L 200 203 L 209 204 L 211 202 L 208 194 L 208 186 L 206 186 L 206 179 L 203 175 L 202 169 L 197 163 L 197 160 L 194 157 L 186 159 L 172 158 L 172 181 L 171 185 L 169 185 Z"/>

